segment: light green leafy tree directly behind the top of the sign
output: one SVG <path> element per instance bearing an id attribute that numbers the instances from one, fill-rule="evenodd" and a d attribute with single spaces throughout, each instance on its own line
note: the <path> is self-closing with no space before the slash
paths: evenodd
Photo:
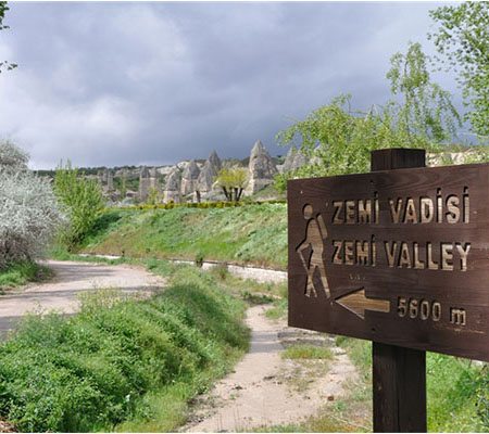
<path id="1" fill-rule="evenodd" d="M 427 56 L 419 44 L 410 44 L 406 54 L 391 59 L 387 78 L 402 103 L 388 101 L 363 112 L 352 112 L 351 95 L 335 98 L 276 136 L 279 144 L 298 141 L 310 163 L 284 178 L 314 177 L 369 170 L 371 152 L 386 148 L 438 150 L 451 138 L 459 114 L 450 94 L 430 82 Z M 278 186 L 285 187 L 278 177 Z"/>

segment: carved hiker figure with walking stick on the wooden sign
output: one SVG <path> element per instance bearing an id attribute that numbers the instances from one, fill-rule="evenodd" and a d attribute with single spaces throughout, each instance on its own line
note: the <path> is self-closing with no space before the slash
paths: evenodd
<path id="1" fill-rule="evenodd" d="M 310 297 L 313 294 L 317 297 L 317 291 L 314 285 L 314 272 L 317 269 L 321 276 L 321 282 L 323 284 L 323 291 L 326 297 L 329 298 L 329 286 L 326 277 L 326 269 L 323 260 L 324 241 L 328 237 L 326 225 L 324 224 L 323 216 L 317 214 L 314 217 L 314 209 L 312 205 L 305 205 L 302 210 L 304 218 L 308 220 L 305 226 L 305 240 L 299 244 L 296 248 L 299 254 L 302 264 L 306 272 L 305 281 L 305 296 Z M 312 253 L 309 258 L 304 257 L 304 251 L 311 247 Z"/>

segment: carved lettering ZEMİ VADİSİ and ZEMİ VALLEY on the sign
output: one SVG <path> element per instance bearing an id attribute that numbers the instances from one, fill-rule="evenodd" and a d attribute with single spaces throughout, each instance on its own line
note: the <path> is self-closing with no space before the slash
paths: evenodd
<path id="1" fill-rule="evenodd" d="M 468 224 L 469 197 L 468 188 L 464 187 L 462 194 L 441 194 L 437 190 L 435 199 L 396 197 L 388 199 L 390 224 L 392 225 L 427 225 L 427 224 Z M 358 201 L 333 201 L 333 225 L 378 225 L 379 199 L 363 199 Z M 425 242 L 404 242 L 380 240 L 377 246 L 375 237 L 369 240 L 334 240 L 333 264 L 362 265 L 375 267 L 377 255 L 386 255 L 389 267 L 429 269 L 429 270 L 461 270 L 466 271 L 471 243 L 440 242 L 434 245 Z M 436 260 L 434 252 L 440 252 Z"/>

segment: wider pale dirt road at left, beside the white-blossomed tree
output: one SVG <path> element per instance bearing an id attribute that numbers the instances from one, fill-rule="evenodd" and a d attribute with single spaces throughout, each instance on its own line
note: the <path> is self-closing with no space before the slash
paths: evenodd
<path id="1" fill-rule="evenodd" d="M 165 282 L 140 267 L 129 265 L 48 260 L 43 263 L 55 272 L 54 279 L 28 285 L 0 296 L 0 335 L 13 328 L 15 321 L 28 311 L 57 309 L 65 314 L 77 310 L 77 295 L 100 288 L 120 289 L 124 293 L 154 292 Z"/>

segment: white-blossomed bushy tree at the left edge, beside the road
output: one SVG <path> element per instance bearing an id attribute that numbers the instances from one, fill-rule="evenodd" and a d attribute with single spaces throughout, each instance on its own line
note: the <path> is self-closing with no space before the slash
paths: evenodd
<path id="1" fill-rule="evenodd" d="M 49 181 L 27 162 L 24 151 L 0 143 L 0 269 L 42 256 L 62 222 Z"/>

